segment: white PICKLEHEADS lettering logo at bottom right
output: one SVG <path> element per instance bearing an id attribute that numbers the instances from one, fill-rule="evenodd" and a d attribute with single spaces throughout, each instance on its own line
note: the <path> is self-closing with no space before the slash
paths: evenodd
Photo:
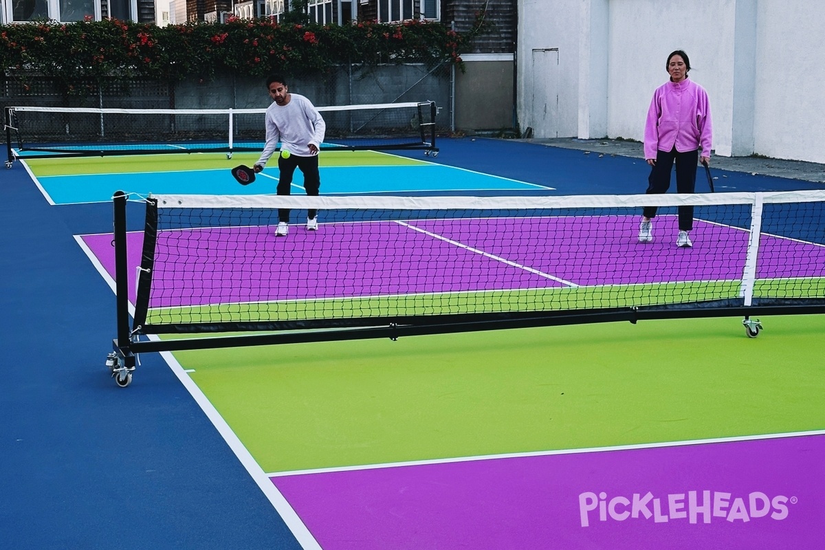
<path id="1" fill-rule="evenodd" d="M 625 521 L 627 519 L 652 519 L 655 523 L 686 519 L 691 524 L 700 521 L 709 524 L 713 519 L 729 522 L 770 518 L 781 521 L 788 517 L 789 504 L 796 504 L 796 497 L 768 496 L 761 491 L 733 496 L 723 491 L 688 491 L 662 497 L 648 491 L 644 495 L 611 496 L 606 492 L 583 492 L 578 496 L 578 512 L 582 527 L 596 521 Z M 718 519 L 717 519 L 718 518 Z"/>

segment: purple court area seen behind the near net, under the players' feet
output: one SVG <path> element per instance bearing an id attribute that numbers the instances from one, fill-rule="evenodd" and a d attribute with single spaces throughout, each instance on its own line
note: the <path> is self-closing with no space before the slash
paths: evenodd
<path id="1" fill-rule="evenodd" d="M 675 217 L 658 220 L 660 234 L 676 234 Z M 165 231 L 158 251 L 197 254 L 171 271 L 158 254 L 150 307 L 742 278 L 746 231 L 697 220 L 694 247 L 682 249 L 667 237 L 639 243 L 637 224 L 630 216 L 498 219 L 494 231 L 479 219 L 328 223 L 286 238 L 267 227 Z M 129 234 L 131 270 L 142 239 Z M 111 235 L 83 240 L 113 275 Z M 761 236 L 757 278 L 813 276 L 825 276 L 825 247 Z"/>

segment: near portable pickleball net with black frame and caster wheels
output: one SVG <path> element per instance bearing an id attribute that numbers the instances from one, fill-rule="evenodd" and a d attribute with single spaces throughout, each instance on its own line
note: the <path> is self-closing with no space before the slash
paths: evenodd
<path id="1" fill-rule="evenodd" d="M 142 231 L 126 231 L 129 200 L 145 205 Z M 693 247 L 676 247 L 676 210 L 688 204 Z M 638 238 L 645 205 L 659 207 L 652 242 Z M 278 209 L 295 220 L 310 208 L 321 212 L 317 231 L 294 224 L 276 237 Z M 755 337 L 752 316 L 825 311 L 825 190 L 119 192 L 114 214 L 117 336 L 107 363 L 121 386 L 141 352 L 675 317 L 740 316 Z M 163 337 L 172 334 L 189 336 Z"/>

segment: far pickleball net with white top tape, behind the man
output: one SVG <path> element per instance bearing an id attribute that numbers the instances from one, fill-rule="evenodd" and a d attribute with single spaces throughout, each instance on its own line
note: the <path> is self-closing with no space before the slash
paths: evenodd
<path id="1" fill-rule="evenodd" d="M 318 107 L 325 143 L 347 149 L 435 149 L 436 105 Z M 16 152 L 101 155 L 260 151 L 266 109 L 7 108 Z"/>

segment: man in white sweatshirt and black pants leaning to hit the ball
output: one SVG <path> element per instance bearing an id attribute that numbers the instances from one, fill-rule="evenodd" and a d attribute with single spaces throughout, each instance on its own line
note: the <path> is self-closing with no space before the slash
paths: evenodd
<path id="1" fill-rule="evenodd" d="M 266 88 L 273 103 L 266 109 L 266 144 L 261 157 L 255 162 L 255 172 L 261 172 L 266 161 L 281 143 L 278 157 L 278 195 L 290 195 L 295 168 L 304 174 L 304 190 L 307 195 L 318 196 L 321 175 L 318 172 L 318 150 L 323 143 L 327 125 L 318 109 L 309 99 L 290 93 L 283 75 L 273 74 L 266 79 Z M 318 230 L 318 210 L 307 211 L 309 231 Z M 278 209 L 276 235 L 286 237 L 290 231 L 290 210 Z"/>

